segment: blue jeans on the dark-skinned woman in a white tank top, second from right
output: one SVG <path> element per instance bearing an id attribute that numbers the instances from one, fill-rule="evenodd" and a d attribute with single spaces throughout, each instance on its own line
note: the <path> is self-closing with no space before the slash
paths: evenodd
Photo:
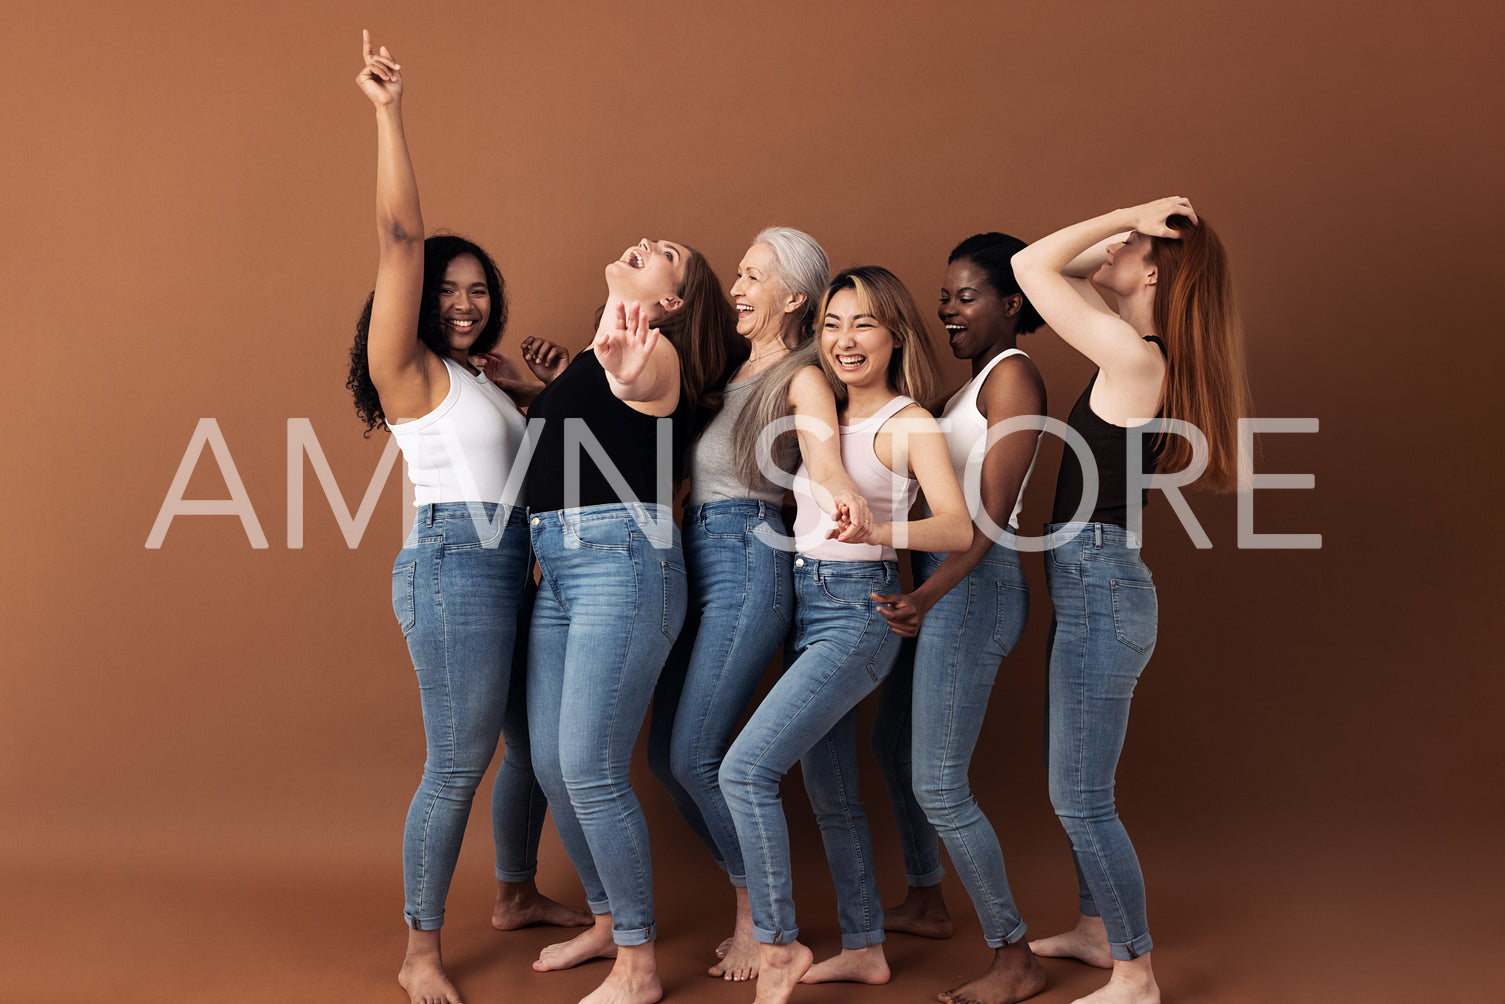
<path id="1" fill-rule="evenodd" d="M 944 558 L 911 552 L 915 586 Z M 920 637 L 905 646 L 912 658 L 901 655 L 883 683 L 873 721 L 873 753 L 888 783 L 909 885 L 935 885 L 945 875 L 939 831 L 992 948 L 1023 938 L 1025 923 L 968 769 L 998 664 L 1019 643 L 1028 617 L 1019 552 L 995 543 L 926 614 Z"/>

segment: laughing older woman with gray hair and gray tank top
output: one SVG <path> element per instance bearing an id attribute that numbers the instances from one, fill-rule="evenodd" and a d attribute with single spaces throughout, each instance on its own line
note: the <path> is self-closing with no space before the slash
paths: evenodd
<path id="1" fill-rule="evenodd" d="M 736 890 L 733 935 L 707 971 L 724 980 L 756 977 L 759 947 L 742 849 L 716 774 L 795 611 L 793 546 L 780 512 L 789 479 L 771 480 L 778 473 L 756 456 L 769 420 L 793 414 L 810 426 L 799 432 L 798 449 L 825 489 L 826 513 L 852 524 L 846 536 L 870 524 L 867 503 L 841 467 L 831 387 L 808 360 L 795 364 L 805 355 L 799 348 L 813 345 L 811 312 L 828 278 L 826 253 L 808 233 L 768 227 L 754 238 L 731 286 L 748 358 L 727 375 L 721 408 L 685 464 L 689 608 L 653 697 L 649 763 Z M 789 443 L 781 455 L 786 473 L 793 449 Z M 829 533 L 837 536 L 835 522 Z"/>

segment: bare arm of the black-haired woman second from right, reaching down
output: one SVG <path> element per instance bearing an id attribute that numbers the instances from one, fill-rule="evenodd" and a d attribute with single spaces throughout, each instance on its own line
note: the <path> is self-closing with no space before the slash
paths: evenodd
<path id="1" fill-rule="evenodd" d="M 1016 415 L 1043 415 L 1044 381 L 1026 360 L 1005 360 L 995 366 L 993 372 L 983 381 L 977 403 L 987 418 L 989 427 Z M 1034 461 L 1038 438 L 1038 432 L 1010 434 L 993 444 L 983 458 L 983 510 L 996 527 L 1008 525 L 1008 518 L 1013 515 L 1023 488 L 1025 474 Z M 906 638 L 915 637 L 926 613 L 977 567 L 993 543 L 993 537 L 987 536 L 981 527 L 974 525 L 972 543 L 966 549 L 948 552 L 935 573 L 915 587 L 912 593 L 882 596 L 879 613 L 888 619 L 895 634 Z"/>

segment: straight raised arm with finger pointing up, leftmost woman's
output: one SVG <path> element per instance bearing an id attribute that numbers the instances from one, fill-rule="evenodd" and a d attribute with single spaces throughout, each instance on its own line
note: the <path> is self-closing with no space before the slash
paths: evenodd
<path id="1" fill-rule="evenodd" d="M 355 83 L 376 105 L 376 295 L 367 357 L 372 384 L 393 418 L 423 414 L 429 394 L 427 349 L 418 340 L 423 298 L 423 212 L 402 129 L 402 68 L 361 32 L 364 65 Z"/>

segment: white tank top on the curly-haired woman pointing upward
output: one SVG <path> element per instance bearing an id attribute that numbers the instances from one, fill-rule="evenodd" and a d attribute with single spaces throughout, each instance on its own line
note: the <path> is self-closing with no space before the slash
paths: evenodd
<path id="1" fill-rule="evenodd" d="M 509 498 L 503 498 L 503 491 L 527 429 L 522 412 L 485 375 L 439 358 L 450 373 L 450 393 L 439 406 L 412 421 L 387 423 L 408 462 L 414 504 L 516 504 L 522 479 L 507 492 Z"/>

